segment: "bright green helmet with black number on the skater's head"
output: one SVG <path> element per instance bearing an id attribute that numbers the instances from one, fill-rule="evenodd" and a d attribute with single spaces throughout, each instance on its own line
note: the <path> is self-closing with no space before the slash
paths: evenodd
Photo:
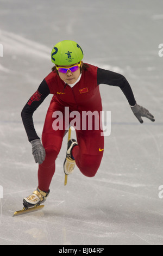
<path id="1" fill-rule="evenodd" d="M 64 40 L 58 42 L 51 52 L 51 60 L 56 65 L 73 65 L 83 59 L 82 48 L 74 41 Z"/>

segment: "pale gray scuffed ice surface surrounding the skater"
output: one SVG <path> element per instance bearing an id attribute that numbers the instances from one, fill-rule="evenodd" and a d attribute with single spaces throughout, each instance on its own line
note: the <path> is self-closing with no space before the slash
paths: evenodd
<path id="1" fill-rule="evenodd" d="M 0 245 L 163 245 L 162 41 L 159 0 L 0 0 Z M 64 186 L 66 139 L 45 208 L 12 217 L 37 186 L 20 113 L 51 71 L 51 48 L 72 39 L 84 61 L 120 72 L 155 123 L 139 124 L 121 90 L 101 85 L 111 135 L 95 178 L 76 167 Z M 51 96 L 34 114 L 39 136 Z M 2 193 L 1 193 L 2 196 Z"/>

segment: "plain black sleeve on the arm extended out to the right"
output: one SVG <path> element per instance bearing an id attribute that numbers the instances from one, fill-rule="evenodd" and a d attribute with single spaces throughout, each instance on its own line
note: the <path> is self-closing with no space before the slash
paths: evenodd
<path id="1" fill-rule="evenodd" d="M 109 84 L 110 86 L 118 86 L 126 96 L 129 105 L 134 106 L 136 104 L 133 91 L 126 78 L 116 72 L 104 70 L 98 68 L 97 70 L 97 84 Z"/>

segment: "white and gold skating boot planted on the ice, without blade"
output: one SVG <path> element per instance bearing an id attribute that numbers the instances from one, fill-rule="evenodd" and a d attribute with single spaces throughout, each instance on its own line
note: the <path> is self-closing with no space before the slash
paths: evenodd
<path id="1" fill-rule="evenodd" d="M 42 204 L 43 202 L 45 202 L 46 198 L 48 197 L 49 192 L 50 191 L 48 192 L 41 191 L 37 187 L 36 190 L 33 192 L 33 194 L 23 198 L 24 207 L 30 208 L 30 207 Z"/>

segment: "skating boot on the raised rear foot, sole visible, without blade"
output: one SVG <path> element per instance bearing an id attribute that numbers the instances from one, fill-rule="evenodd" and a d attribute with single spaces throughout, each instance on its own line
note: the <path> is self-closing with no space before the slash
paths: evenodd
<path id="1" fill-rule="evenodd" d="M 66 153 L 66 159 L 64 161 L 64 172 L 66 175 L 71 174 L 76 165 L 76 161 L 72 156 L 72 149 L 76 145 L 78 145 L 78 143 L 75 139 L 70 139 L 67 143 L 67 153 Z"/>

